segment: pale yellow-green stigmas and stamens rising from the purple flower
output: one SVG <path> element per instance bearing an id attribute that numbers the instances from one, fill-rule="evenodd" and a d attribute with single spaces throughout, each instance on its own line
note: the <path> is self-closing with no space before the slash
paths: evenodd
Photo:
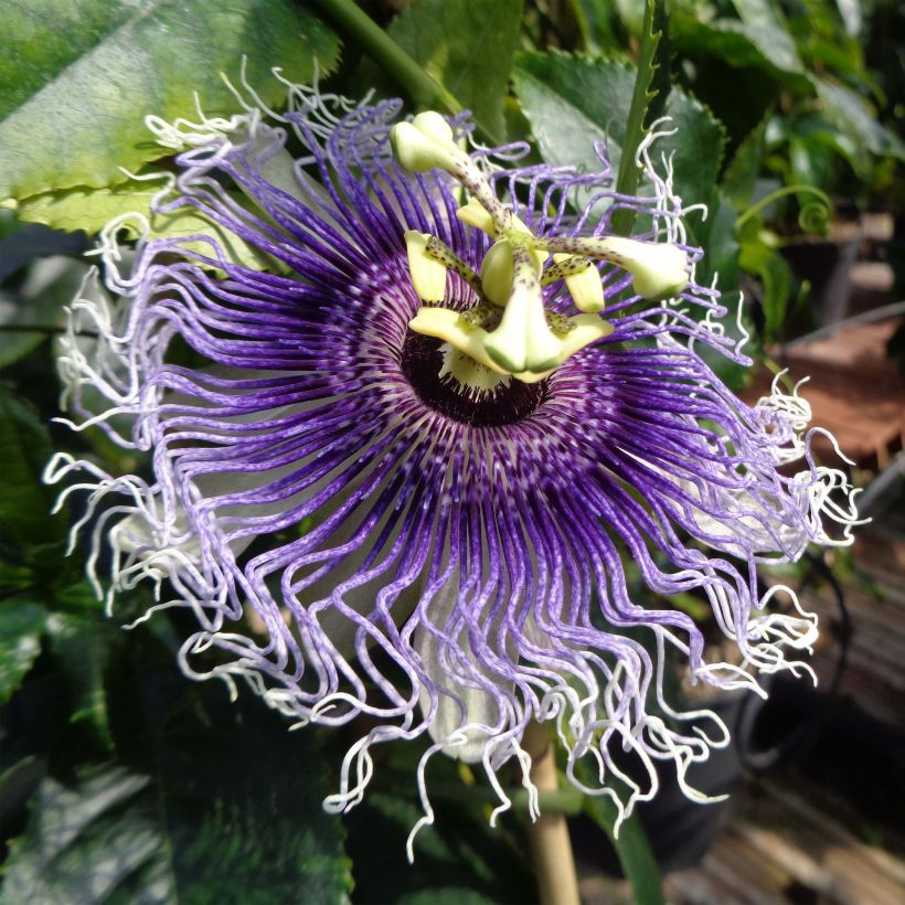
<path id="1" fill-rule="evenodd" d="M 496 196 L 437 113 L 419 114 L 412 123 L 394 126 L 390 140 L 405 169 L 439 169 L 453 175 L 470 195 L 457 216 L 493 239 L 478 274 L 436 236 L 416 231 L 405 234 L 412 283 L 418 298 L 428 302 L 408 326 L 457 351 L 447 356 L 454 376 L 456 362 L 470 374 L 471 365 L 462 364 L 470 360 L 481 365 L 481 374 L 534 383 L 569 355 L 611 333 L 613 324 L 598 315 L 606 300 L 596 260 L 628 270 L 635 291 L 647 299 L 670 298 L 688 285 L 688 259 L 675 245 L 619 236 L 534 235 Z M 544 269 L 551 255 L 553 263 Z M 477 306 L 466 311 L 443 307 L 448 272 L 471 286 L 480 299 Z M 560 279 L 582 313 L 565 317 L 544 308 L 542 288 Z"/>

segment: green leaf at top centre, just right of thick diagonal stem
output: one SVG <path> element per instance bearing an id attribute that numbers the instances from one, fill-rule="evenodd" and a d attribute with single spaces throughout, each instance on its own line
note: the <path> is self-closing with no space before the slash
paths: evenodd
<path id="1" fill-rule="evenodd" d="M 387 31 L 490 136 L 505 135 L 503 102 L 523 0 L 419 0 Z"/>

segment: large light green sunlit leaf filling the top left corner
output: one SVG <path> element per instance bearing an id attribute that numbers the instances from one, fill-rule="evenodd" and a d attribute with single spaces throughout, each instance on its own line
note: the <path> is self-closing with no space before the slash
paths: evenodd
<path id="1" fill-rule="evenodd" d="M 104 188 L 162 156 L 145 117 L 234 111 L 221 78 L 248 83 L 265 104 L 337 60 L 336 36 L 289 0 L 13 0 L 0 84 L 0 199 L 76 185 Z"/>

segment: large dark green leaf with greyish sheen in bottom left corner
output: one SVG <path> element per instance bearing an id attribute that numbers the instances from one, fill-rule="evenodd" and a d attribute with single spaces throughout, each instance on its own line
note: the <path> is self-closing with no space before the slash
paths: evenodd
<path id="1" fill-rule="evenodd" d="M 73 786 L 45 779 L 0 902 L 343 901 L 348 867 L 315 752 L 291 745 L 289 757 L 252 727 L 224 736 L 209 725 L 192 741 L 158 748 L 157 773 L 107 765 Z"/>

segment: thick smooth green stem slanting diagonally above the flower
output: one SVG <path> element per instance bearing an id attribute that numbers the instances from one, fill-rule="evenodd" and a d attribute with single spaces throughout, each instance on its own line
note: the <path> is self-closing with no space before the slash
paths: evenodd
<path id="1" fill-rule="evenodd" d="M 315 0 L 315 4 L 339 31 L 359 41 L 365 52 L 405 88 L 417 107 L 443 107 L 450 114 L 461 113 L 461 104 L 359 9 L 354 0 Z"/>

